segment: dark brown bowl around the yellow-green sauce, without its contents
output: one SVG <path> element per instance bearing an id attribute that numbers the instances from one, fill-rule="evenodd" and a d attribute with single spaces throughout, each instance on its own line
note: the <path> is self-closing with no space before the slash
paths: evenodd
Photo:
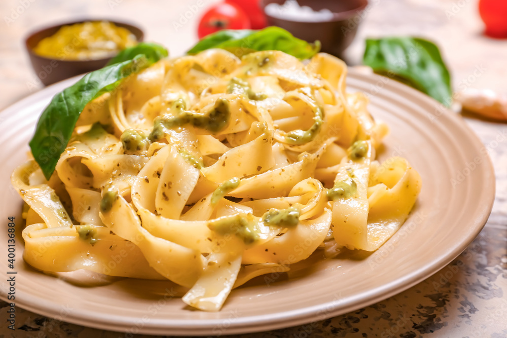
<path id="1" fill-rule="evenodd" d="M 141 42 L 144 38 L 144 33 L 139 27 L 133 26 L 128 23 L 118 22 L 107 19 L 86 19 L 73 22 L 66 22 L 59 25 L 47 27 L 34 31 L 26 37 L 25 46 L 30 61 L 35 71 L 35 74 L 41 79 L 45 86 L 51 85 L 55 82 L 71 78 L 73 76 L 87 73 L 89 71 L 97 70 L 105 66 L 107 61 L 111 60 L 111 57 L 94 59 L 94 60 L 60 60 L 58 58 L 47 58 L 44 56 L 37 55 L 33 52 L 33 48 L 39 44 L 39 42 L 45 37 L 51 36 L 65 25 L 72 25 L 75 23 L 81 23 L 85 21 L 109 21 L 119 27 L 127 28 L 135 35 L 138 42 Z"/>

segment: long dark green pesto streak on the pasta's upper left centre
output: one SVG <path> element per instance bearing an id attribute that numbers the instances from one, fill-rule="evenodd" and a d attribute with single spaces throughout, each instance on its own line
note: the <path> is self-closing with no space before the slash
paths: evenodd
<path id="1" fill-rule="evenodd" d="M 215 134 L 229 124 L 231 115 L 229 101 L 224 98 L 217 99 L 213 109 L 211 109 L 206 115 L 184 110 L 184 104 L 183 106 L 175 106 L 176 104 L 181 104 L 181 102 L 183 102 L 183 100 L 176 100 L 173 104 L 174 110 L 179 110 L 175 115 L 163 116 L 155 120 L 155 125 L 149 136 L 151 141 L 155 142 L 164 137 L 165 128 L 171 129 L 190 123 L 194 127 L 203 128 Z"/>

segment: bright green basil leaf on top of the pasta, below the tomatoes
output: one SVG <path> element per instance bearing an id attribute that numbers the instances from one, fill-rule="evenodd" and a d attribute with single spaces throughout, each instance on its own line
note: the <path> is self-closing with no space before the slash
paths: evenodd
<path id="1" fill-rule="evenodd" d="M 210 48 L 222 48 L 237 56 L 253 51 L 278 50 L 299 59 L 308 59 L 318 53 L 320 42 L 317 40 L 310 44 L 275 26 L 261 30 L 226 29 L 204 37 L 187 54 L 197 54 Z"/>

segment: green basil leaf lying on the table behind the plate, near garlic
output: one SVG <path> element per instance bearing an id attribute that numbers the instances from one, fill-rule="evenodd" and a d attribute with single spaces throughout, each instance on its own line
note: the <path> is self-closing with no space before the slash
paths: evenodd
<path id="1" fill-rule="evenodd" d="M 367 39 L 363 63 L 375 72 L 392 73 L 450 106 L 452 100 L 449 70 L 436 45 L 415 37 Z"/>

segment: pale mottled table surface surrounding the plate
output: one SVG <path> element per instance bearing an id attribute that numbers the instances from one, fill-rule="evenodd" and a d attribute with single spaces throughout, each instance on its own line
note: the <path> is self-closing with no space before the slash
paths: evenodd
<path id="1" fill-rule="evenodd" d="M 23 50 L 23 37 L 34 28 L 84 17 L 128 19 L 145 29 L 147 41 L 170 46 L 171 55 L 181 55 L 197 40 L 199 16 L 216 1 L 3 0 L 0 108 L 42 88 Z M 195 4 L 203 6 L 187 23 L 175 28 L 180 14 Z M 507 94 L 507 40 L 488 39 L 482 34 L 475 0 L 370 0 L 370 4 L 356 40 L 344 55 L 349 64 L 360 62 L 366 36 L 424 36 L 440 46 L 454 88 L 491 88 Z M 474 75 L 476 68 L 482 69 L 479 76 Z M 242 336 L 507 337 L 507 145 L 502 141 L 505 137 L 494 143 L 495 137 L 505 135 L 507 125 L 473 116 L 463 118 L 490 149 L 497 185 L 486 226 L 456 260 L 414 287 L 367 308 L 312 325 Z M 448 270 L 453 273 L 446 275 Z M 0 302 L 0 308 L 6 307 Z M 6 327 L 6 310 L 0 311 L 0 337 L 124 336 L 58 322 L 22 309 L 17 309 L 18 327 L 13 333 Z"/>

